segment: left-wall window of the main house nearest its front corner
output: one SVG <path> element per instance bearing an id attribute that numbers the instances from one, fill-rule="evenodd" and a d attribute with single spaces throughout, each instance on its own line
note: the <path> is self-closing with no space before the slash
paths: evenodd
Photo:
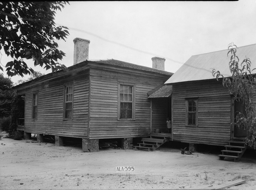
<path id="1" fill-rule="evenodd" d="M 73 87 L 65 87 L 64 119 L 72 119 Z"/>

